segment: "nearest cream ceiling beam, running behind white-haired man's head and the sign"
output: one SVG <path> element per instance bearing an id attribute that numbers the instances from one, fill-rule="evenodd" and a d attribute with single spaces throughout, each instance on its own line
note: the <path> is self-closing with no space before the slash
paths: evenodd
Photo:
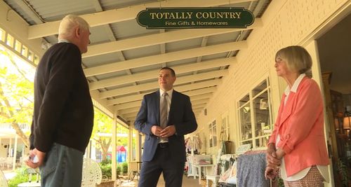
<path id="1" fill-rule="evenodd" d="M 232 0 L 232 4 L 239 4 L 252 0 Z M 140 4 L 136 6 L 128 6 L 126 8 L 112 9 L 100 13 L 91 13 L 80 15 L 91 27 L 107 25 L 114 22 L 122 22 L 133 20 L 140 11 L 144 11 L 147 7 L 211 7 L 228 4 L 227 0 L 178 0 L 178 1 L 160 1 L 149 4 Z M 28 39 L 37 39 L 45 36 L 58 34 L 60 20 L 54 22 L 46 22 L 39 25 L 32 25 L 28 29 Z"/>

